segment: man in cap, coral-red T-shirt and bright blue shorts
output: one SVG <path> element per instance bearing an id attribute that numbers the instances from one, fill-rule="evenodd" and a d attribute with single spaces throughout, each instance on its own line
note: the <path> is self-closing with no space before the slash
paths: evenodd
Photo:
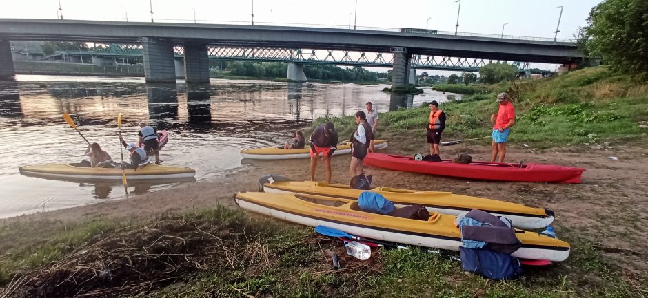
<path id="1" fill-rule="evenodd" d="M 511 132 L 511 127 L 515 124 L 515 109 L 511 103 L 511 97 L 507 93 L 500 93 L 497 96 L 497 102 L 500 107 L 497 114 L 491 115 L 491 123 L 493 126 L 493 143 L 491 162 L 504 162 L 506 156 L 506 141 Z M 497 158 L 499 154 L 499 158 Z"/>

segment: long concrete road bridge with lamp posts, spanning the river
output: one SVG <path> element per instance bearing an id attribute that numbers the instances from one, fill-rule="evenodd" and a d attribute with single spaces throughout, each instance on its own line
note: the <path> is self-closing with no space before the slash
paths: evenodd
<path id="1" fill-rule="evenodd" d="M 583 56 L 571 41 L 430 31 L 433 30 L 412 33 L 259 25 L 0 19 L 0 77 L 12 76 L 14 72 L 8 41 L 141 45 L 148 82 L 175 81 L 178 65 L 174 61 L 178 54 L 183 56 L 181 67 L 190 83 L 209 80 L 207 61 L 210 54 L 220 53 L 221 58 L 225 58 L 227 55 L 223 53 L 229 52 L 232 60 L 245 60 L 242 59 L 245 53 L 247 58 L 256 53 L 252 58 L 268 61 L 269 56 L 259 55 L 263 52 L 270 53 L 270 57 L 274 55 L 277 60 L 292 62 L 288 76 L 296 81 L 306 79 L 301 63 L 373 64 L 371 66 L 392 67 L 392 86 L 407 84 L 412 67 L 476 70 L 487 61 L 570 64 Z M 317 57 L 316 51 L 321 50 L 329 55 Z M 345 55 L 334 58 L 333 52 Z M 353 58 L 350 52 L 356 53 Z M 374 53 L 374 56 L 367 58 L 367 53 Z M 391 56 L 388 60 L 383 57 L 387 55 Z"/>

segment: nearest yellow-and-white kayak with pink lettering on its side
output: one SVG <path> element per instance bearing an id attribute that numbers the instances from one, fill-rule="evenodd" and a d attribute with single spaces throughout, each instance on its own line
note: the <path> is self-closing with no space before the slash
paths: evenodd
<path id="1" fill-rule="evenodd" d="M 369 213 L 359 209 L 357 200 L 292 193 L 238 193 L 236 204 L 263 215 L 304 224 L 328 226 L 359 237 L 458 251 L 463 245 L 456 216 L 430 213 L 429 220 L 412 220 Z M 522 247 L 512 253 L 523 259 L 564 261 L 569 243 L 538 233 L 516 230 Z"/>

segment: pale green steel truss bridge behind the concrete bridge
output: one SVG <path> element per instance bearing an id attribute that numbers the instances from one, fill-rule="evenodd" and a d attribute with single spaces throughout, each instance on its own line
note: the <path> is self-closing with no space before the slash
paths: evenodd
<path id="1" fill-rule="evenodd" d="M 176 58 L 184 55 L 181 45 L 174 46 Z M 209 46 L 208 56 L 216 61 L 292 62 L 318 65 L 348 65 L 367 67 L 392 67 L 391 52 L 356 52 L 346 50 L 318 50 L 279 47 L 232 47 Z M 67 51 L 68 55 L 103 56 L 115 58 L 141 57 L 142 46 L 96 44 L 88 51 Z M 484 58 L 461 58 L 452 56 L 412 55 L 410 67 L 429 70 L 452 70 L 476 72 L 489 63 L 509 63 L 520 70 L 528 70 L 528 62 L 501 61 Z"/>

